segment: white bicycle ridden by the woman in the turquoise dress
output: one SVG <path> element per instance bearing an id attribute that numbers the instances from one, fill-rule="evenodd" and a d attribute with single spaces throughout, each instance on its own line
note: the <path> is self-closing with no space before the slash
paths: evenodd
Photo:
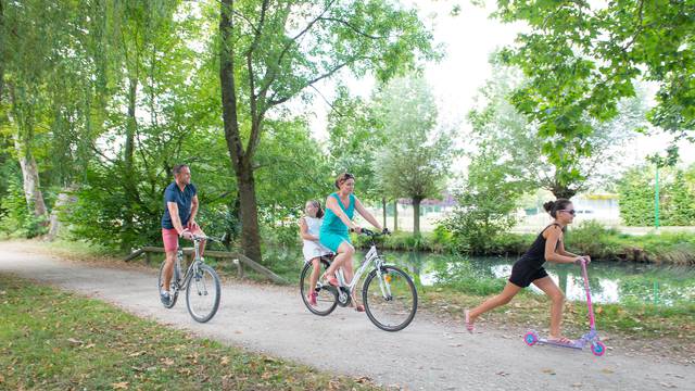
<path id="1" fill-rule="evenodd" d="M 375 239 L 387 234 L 376 234 L 368 229 L 363 229 L 362 235 L 369 237 L 370 248 L 350 283 L 345 281 L 341 268 L 336 273 L 339 281 L 338 287 L 321 281 L 318 281 L 315 287 L 311 287 L 309 277 L 314 267 L 311 263 L 304 265 L 300 277 L 300 293 L 304 305 L 313 314 L 319 316 L 329 315 L 338 305 L 342 307 L 349 306 L 352 303 L 359 279 L 367 268 L 372 266 L 362 286 L 362 300 L 365 312 L 369 320 L 382 330 L 403 330 L 413 321 L 417 312 L 415 283 L 405 272 L 393 265 L 386 264 L 382 255 L 379 254 Z M 334 255 L 331 254 L 320 258 L 323 272 L 326 272 L 333 257 Z M 317 295 L 316 305 L 312 305 L 307 299 L 307 294 L 312 292 Z"/>

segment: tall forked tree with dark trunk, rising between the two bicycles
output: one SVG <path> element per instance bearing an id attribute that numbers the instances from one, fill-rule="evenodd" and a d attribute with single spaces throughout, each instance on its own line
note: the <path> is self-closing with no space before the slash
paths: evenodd
<path id="1" fill-rule="evenodd" d="M 239 186 L 242 245 L 261 260 L 254 156 L 271 111 L 343 70 L 388 79 L 432 56 L 415 11 L 371 1 L 220 1 L 224 130 Z"/>

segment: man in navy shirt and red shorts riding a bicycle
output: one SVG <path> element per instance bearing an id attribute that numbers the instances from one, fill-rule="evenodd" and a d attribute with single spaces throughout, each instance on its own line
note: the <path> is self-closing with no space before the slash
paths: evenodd
<path id="1" fill-rule="evenodd" d="M 180 237 L 192 239 L 193 236 L 205 234 L 195 223 L 198 214 L 198 190 L 191 184 L 191 171 L 186 164 L 174 167 L 174 181 L 164 190 L 164 215 L 162 216 L 162 240 L 166 253 L 163 285 L 160 287 L 162 303 L 168 304 L 170 300 L 169 286 L 174 274 L 174 262 L 178 251 Z M 205 242 L 201 242 L 201 254 Z"/>

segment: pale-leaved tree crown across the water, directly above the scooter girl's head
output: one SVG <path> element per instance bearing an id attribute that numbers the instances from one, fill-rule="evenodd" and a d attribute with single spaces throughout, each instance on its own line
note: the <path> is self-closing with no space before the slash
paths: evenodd
<path id="1" fill-rule="evenodd" d="M 493 76 L 478 96 L 479 106 L 468 114 L 473 144 L 496 146 L 498 164 L 511 168 L 509 173 L 526 189 L 545 189 L 556 198 L 570 199 L 605 182 L 622 165 L 622 148 L 646 125 L 644 94 L 620 101 L 615 119 L 601 123 L 589 118 L 592 131 L 581 142 L 548 148 L 536 123 L 529 122 L 508 100 L 527 83 L 519 70 L 493 62 Z M 591 155 L 582 153 L 587 148 Z M 481 149 L 469 156 L 476 160 L 488 153 Z"/>

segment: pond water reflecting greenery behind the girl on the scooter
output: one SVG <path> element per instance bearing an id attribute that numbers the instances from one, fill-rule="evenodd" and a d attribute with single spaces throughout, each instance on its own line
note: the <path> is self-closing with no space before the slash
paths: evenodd
<path id="1" fill-rule="evenodd" d="M 459 257 L 417 252 L 390 252 L 389 263 L 406 268 L 422 286 L 437 286 L 442 277 L 451 282 L 450 272 L 460 263 L 476 278 L 507 279 L 516 258 Z M 568 300 L 585 301 L 581 268 L 576 265 L 546 263 L 548 275 Z M 470 277 L 470 276 L 469 276 Z M 592 300 L 596 303 L 655 303 L 672 305 L 695 301 L 695 270 L 687 267 L 669 267 L 617 262 L 594 262 L 589 268 Z M 543 293 L 534 286 L 532 291 Z"/>

